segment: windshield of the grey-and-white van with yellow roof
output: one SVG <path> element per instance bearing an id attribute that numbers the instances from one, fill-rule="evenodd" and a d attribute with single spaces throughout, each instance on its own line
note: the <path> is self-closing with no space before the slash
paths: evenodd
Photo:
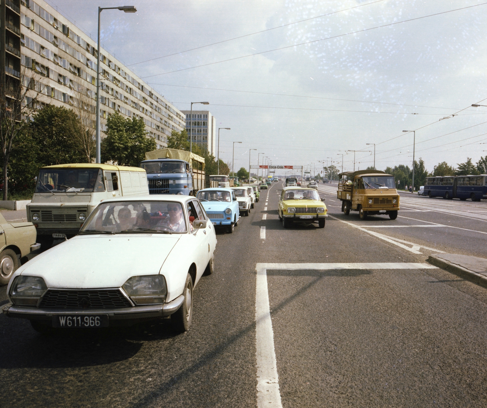
<path id="1" fill-rule="evenodd" d="M 46 168 L 37 179 L 36 193 L 81 193 L 105 191 L 99 168 Z"/>

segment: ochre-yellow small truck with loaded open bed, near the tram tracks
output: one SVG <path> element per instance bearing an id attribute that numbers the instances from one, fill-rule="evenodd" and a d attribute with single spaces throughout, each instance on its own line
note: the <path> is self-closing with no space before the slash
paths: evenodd
<path id="1" fill-rule="evenodd" d="M 394 176 L 380 170 L 345 171 L 338 175 L 337 198 L 345 215 L 358 211 L 361 220 L 368 215 L 389 215 L 397 218 L 399 194 Z"/>

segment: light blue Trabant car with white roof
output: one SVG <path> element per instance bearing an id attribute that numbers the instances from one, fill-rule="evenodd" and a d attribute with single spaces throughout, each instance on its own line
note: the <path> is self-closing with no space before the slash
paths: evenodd
<path id="1" fill-rule="evenodd" d="M 239 223 L 239 203 L 231 188 L 204 188 L 198 191 L 196 198 L 213 225 L 225 226 L 230 234 L 233 232 Z"/>

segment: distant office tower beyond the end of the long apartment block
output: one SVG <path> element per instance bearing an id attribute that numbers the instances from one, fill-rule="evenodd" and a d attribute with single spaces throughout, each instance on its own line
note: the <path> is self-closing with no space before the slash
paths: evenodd
<path id="1" fill-rule="evenodd" d="M 216 119 L 210 111 L 182 111 L 186 116 L 187 140 L 193 137 L 193 143 L 207 150 L 216 157 Z M 192 133 L 191 133 L 192 131 Z"/>

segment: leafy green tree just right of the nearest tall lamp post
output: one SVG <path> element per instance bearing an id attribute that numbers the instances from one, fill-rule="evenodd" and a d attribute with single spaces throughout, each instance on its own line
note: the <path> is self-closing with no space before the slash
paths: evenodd
<path id="1" fill-rule="evenodd" d="M 118 112 L 107 120 L 107 137 L 101 142 L 102 162 L 112 160 L 119 166 L 138 167 L 148 151 L 157 145 L 153 138 L 146 137 L 143 119 L 125 119 Z"/>

